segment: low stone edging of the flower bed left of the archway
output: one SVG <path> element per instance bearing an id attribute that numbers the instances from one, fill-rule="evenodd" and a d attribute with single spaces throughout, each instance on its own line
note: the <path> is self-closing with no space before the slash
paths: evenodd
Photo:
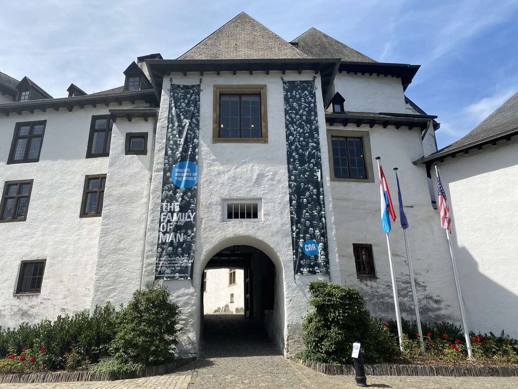
<path id="1" fill-rule="evenodd" d="M 166 365 L 150 366 L 143 370 L 120 374 L 114 380 L 162 376 L 182 366 L 194 362 L 196 357 L 182 358 Z M 77 382 L 77 381 L 109 381 L 106 373 L 92 373 L 90 371 L 56 371 L 49 373 L 8 374 L 0 376 L 0 384 L 7 383 L 49 383 L 49 382 Z"/>

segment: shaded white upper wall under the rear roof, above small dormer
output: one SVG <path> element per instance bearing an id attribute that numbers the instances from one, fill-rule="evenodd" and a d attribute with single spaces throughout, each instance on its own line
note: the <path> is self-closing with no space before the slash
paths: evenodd
<path id="1" fill-rule="evenodd" d="M 338 73 L 335 89 L 346 101 L 346 112 L 406 113 L 401 78 Z"/>

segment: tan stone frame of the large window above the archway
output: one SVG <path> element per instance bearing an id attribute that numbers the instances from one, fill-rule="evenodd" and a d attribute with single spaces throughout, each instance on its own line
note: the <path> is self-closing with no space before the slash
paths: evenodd
<path id="1" fill-rule="evenodd" d="M 268 111 L 266 85 L 214 85 L 212 102 L 212 143 L 268 143 Z M 260 96 L 261 137 L 260 138 L 221 138 L 220 137 L 220 96 L 223 94 Z"/>

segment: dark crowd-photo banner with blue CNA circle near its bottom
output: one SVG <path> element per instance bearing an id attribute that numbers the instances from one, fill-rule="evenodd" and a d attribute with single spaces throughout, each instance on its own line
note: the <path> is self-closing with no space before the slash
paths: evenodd
<path id="1" fill-rule="evenodd" d="M 329 274 L 314 80 L 283 81 L 295 274 Z"/>

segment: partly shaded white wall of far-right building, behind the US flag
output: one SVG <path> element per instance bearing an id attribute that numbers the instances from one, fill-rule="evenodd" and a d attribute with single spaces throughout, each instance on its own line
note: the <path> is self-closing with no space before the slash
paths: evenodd
<path id="1" fill-rule="evenodd" d="M 500 141 L 439 164 L 452 243 L 472 331 L 518 337 L 518 141 Z M 434 180 L 435 181 L 435 180 Z"/>

